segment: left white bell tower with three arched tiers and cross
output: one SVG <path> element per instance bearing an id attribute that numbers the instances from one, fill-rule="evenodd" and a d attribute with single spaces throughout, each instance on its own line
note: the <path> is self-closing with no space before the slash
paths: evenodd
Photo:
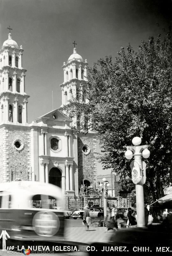
<path id="1" fill-rule="evenodd" d="M 9 28 L 8 29 L 12 29 Z M 22 67 L 22 45 L 8 34 L 0 50 L 0 123 L 27 124 L 25 72 Z"/>

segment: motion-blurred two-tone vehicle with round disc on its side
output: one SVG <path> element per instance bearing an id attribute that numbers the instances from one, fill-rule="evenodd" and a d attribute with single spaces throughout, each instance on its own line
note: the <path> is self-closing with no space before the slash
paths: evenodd
<path id="1" fill-rule="evenodd" d="M 64 217 L 61 189 L 38 181 L 0 184 L 0 233 L 10 239 L 54 241 L 63 238 Z M 46 237 L 46 238 L 45 238 Z"/>

